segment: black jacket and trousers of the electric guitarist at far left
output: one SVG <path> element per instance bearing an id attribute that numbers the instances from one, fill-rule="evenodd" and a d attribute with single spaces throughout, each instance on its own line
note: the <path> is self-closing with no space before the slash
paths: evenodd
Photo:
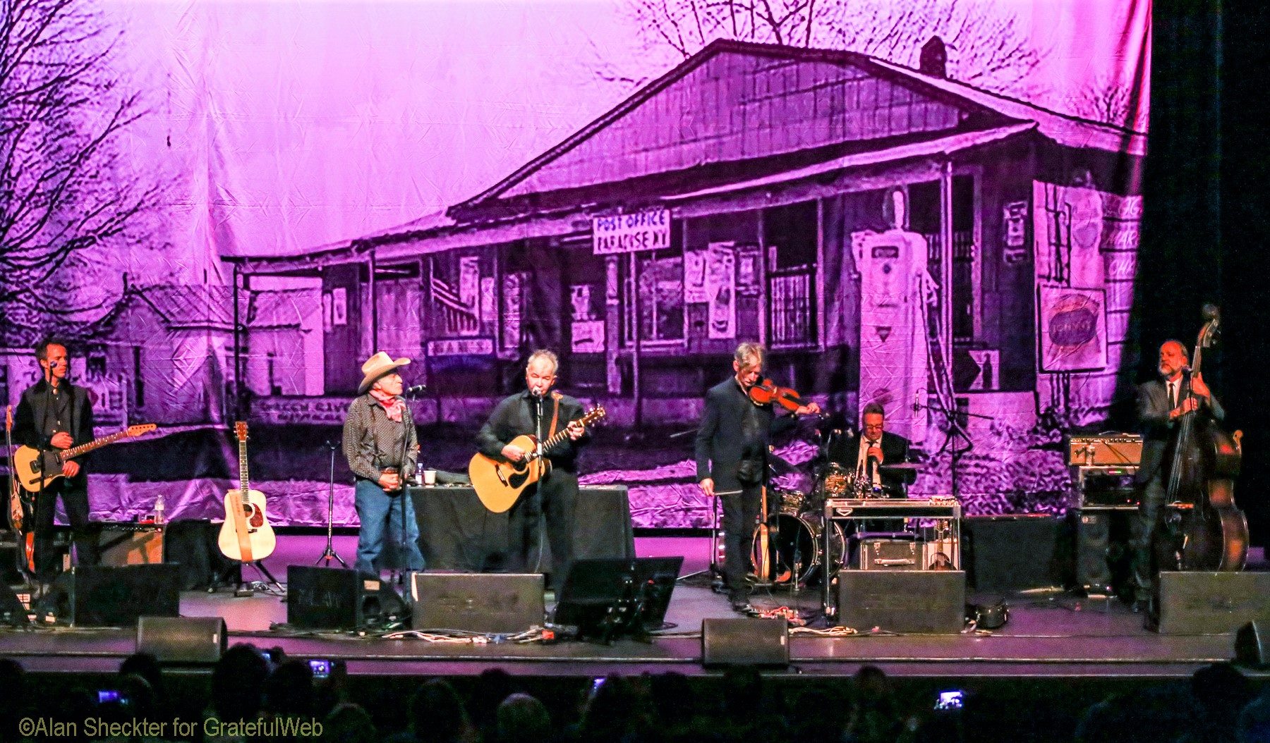
<path id="1" fill-rule="evenodd" d="M 64 397 L 67 394 L 70 397 Z M 20 446 L 55 451 L 51 443 L 53 434 L 69 432 L 74 448 L 93 440 L 93 403 L 88 389 L 64 380 L 52 393 L 48 384 L 41 380 L 22 393 L 13 420 L 13 439 Z M 57 478 L 36 497 L 36 577 L 43 582 L 52 581 L 58 568 L 53 552 L 53 514 L 58 497 L 74 530 L 79 564 L 98 564 L 98 535 L 89 521 L 88 467 L 83 459 L 76 462 L 80 463 L 79 474 Z"/>

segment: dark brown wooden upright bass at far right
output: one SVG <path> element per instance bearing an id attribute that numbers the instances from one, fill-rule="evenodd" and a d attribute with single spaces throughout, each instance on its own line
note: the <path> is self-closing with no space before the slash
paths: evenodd
<path id="1" fill-rule="evenodd" d="M 1213 347 L 1220 333 L 1217 307 L 1205 304 L 1204 320 L 1194 364 L 1182 370 L 1179 402 L 1194 397 L 1191 380 L 1200 374 L 1204 349 Z M 1219 421 L 1199 415 L 1201 410 L 1181 416 L 1173 444 L 1168 502 L 1190 505 L 1182 510 L 1176 563 L 1182 571 L 1242 571 L 1248 557 L 1248 522 L 1234 506 L 1234 478 L 1240 474 L 1243 434 L 1227 434 Z"/>

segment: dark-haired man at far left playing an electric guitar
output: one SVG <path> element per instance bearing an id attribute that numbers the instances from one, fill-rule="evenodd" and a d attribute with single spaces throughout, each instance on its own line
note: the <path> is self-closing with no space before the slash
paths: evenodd
<path id="1" fill-rule="evenodd" d="M 93 440 L 93 402 L 88 389 L 66 379 L 70 356 L 66 346 L 52 340 L 36 346 L 42 379 L 22 393 L 14 415 L 13 439 L 41 453 L 72 449 Z M 76 562 L 98 564 L 97 531 L 89 521 L 88 473 L 80 462 L 62 463 L 64 477 L 43 484 L 36 494 L 36 579 L 52 582 L 57 573 L 53 552 L 53 512 L 62 500 L 75 538 Z"/>

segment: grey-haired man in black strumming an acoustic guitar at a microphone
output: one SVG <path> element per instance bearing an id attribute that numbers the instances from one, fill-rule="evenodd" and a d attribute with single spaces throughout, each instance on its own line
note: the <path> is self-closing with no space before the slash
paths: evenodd
<path id="1" fill-rule="evenodd" d="M 476 435 L 476 448 L 486 456 L 521 462 L 530 451 L 513 446 L 511 441 L 521 435 L 533 435 L 545 441 L 561 427 L 568 441 L 545 454 L 551 469 L 536 484 L 530 486 L 508 512 L 507 568 L 525 572 L 537 565 L 538 514 L 546 515 L 547 543 L 551 545 L 551 586 L 559 590 L 573 563 L 573 517 L 578 505 L 578 448 L 588 434 L 579 422 L 582 403 L 551 392 L 556 382 L 560 361 L 551 351 L 533 351 L 525 366 L 526 391 L 504 398 L 490 413 L 489 421 Z"/>

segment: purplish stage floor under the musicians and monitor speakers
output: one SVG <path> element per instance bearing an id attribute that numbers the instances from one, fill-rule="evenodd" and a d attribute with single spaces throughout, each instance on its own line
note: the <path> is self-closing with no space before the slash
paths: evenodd
<path id="1" fill-rule="evenodd" d="M 309 565 L 321 554 L 324 538 L 287 535 L 267 560 L 283 578 L 288 564 Z M 339 536 L 337 550 L 351 559 L 352 536 Z M 683 573 L 705 568 L 709 539 L 638 538 L 640 557 L 686 555 Z M 1261 564 L 1260 550 L 1255 553 Z M 245 578 L 258 576 L 244 568 Z M 1010 621 L 996 631 L 949 635 L 903 635 L 872 628 L 856 634 L 829 635 L 794 629 L 791 664 L 779 675 L 843 677 L 864 664 L 875 664 L 897 677 L 912 678 L 1176 678 L 1208 663 L 1233 656 L 1231 634 L 1161 635 L 1143 629 L 1142 616 L 1115 598 L 1083 597 L 1058 588 L 1013 595 L 968 593 L 969 602 L 1005 600 Z M 812 616 L 819 590 L 759 590 L 758 610 L 780 606 Z M 591 642 L 472 643 L 428 639 L 380 639 L 353 633 L 304 631 L 284 626 L 287 606 L 281 596 L 257 591 L 236 597 L 229 588 L 217 592 L 187 591 L 180 596 L 182 616 L 221 616 L 230 644 L 249 642 L 281 647 L 298 657 L 344 661 L 349 676 L 471 676 L 499 667 L 517 676 L 601 676 L 673 671 L 688 676 L 712 673 L 702 667 L 701 623 L 710 617 L 735 617 L 725 597 L 711 591 L 704 578 L 676 586 L 667 629 L 649 642 L 618 639 L 603 645 Z M 278 629 L 274 625 L 282 625 Z M 405 629 L 409 629 L 406 626 Z M 36 673 L 109 673 L 135 649 L 135 628 L 53 626 L 0 631 L 0 656 L 19 661 Z M 197 669 L 193 669 L 197 671 Z"/>

